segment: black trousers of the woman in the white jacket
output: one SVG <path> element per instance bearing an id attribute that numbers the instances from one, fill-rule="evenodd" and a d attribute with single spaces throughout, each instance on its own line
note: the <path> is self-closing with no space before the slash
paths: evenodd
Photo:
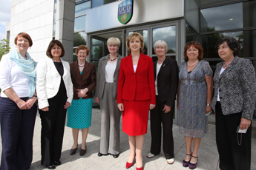
<path id="1" fill-rule="evenodd" d="M 60 92 L 53 98 L 48 99 L 49 111 L 39 110 L 41 130 L 41 164 L 43 166 L 53 165 L 62 154 L 62 142 L 65 128 L 67 110 L 64 105 L 67 97 Z"/>

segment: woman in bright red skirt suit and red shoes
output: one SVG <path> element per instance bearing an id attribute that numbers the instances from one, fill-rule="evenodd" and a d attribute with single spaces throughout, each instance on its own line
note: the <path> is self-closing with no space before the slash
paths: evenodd
<path id="1" fill-rule="evenodd" d="M 148 112 L 156 103 L 154 68 L 152 58 L 144 55 L 144 40 L 140 33 L 132 33 L 126 38 L 128 56 L 122 58 L 118 87 L 117 103 L 122 111 L 122 131 L 128 135 L 130 154 L 126 168 L 134 163 L 136 169 L 143 169 L 142 148 L 144 135 L 147 133 Z"/>

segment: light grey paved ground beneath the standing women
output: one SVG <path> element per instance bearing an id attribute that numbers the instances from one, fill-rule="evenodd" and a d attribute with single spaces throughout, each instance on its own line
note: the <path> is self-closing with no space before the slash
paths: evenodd
<path id="1" fill-rule="evenodd" d="M 121 123 L 122 125 L 122 123 Z M 120 127 L 122 129 L 122 127 Z M 45 169 L 45 166 L 40 164 L 41 151 L 40 151 L 40 131 L 41 131 L 41 120 L 39 115 L 36 117 L 36 126 L 33 139 L 33 163 L 30 170 Z M 173 126 L 174 133 L 174 154 L 175 162 L 173 165 L 166 163 L 163 152 L 156 157 L 148 159 L 146 155 L 149 152 L 151 145 L 151 135 L 148 123 L 148 133 L 145 135 L 144 147 L 143 147 L 143 166 L 145 170 L 167 170 L 167 169 L 188 169 L 183 168 L 182 161 L 186 155 L 186 143 L 183 135 L 180 134 L 177 125 Z M 81 134 L 79 134 L 81 135 Z M 81 137 L 79 136 L 81 141 Z M 89 129 L 87 139 L 87 153 L 84 156 L 79 156 L 79 148 L 73 156 L 70 156 L 69 151 L 73 145 L 72 131 L 70 128 L 65 127 L 64 142 L 62 147 L 62 165 L 57 166 L 56 169 L 125 169 L 125 163 L 128 159 L 129 146 L 128 136 L 121 131 L 121 154 L 118 158 L 114 159 L 112 156 L 98 157 L 99 152 L 99 140 L 100 140 L 100 110 L 93 109 L 92 126 Z M 256 132 L 252 133 L 252 169 L 256 169 Z M 1 146 L 0 146 L 1 152 Z M 209 124 L 209 132 L 203 137 L 200 144 L 199 155 L 198 155 L 197 169 L 215 170 L 218 168 L 219 158 L 217 154 L 217 147 L 215 143 L 215 126 Z M 131 170 L 135 170 L 136 166 L 132 166 Z"/>

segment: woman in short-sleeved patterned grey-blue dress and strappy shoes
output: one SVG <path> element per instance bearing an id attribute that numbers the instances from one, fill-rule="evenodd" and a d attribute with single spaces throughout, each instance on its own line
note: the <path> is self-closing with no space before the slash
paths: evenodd
<path id="1" fill-rule="evenodd" d="M 207 132 L 206 114 L 211 112 L 212 70 L 209 63 L 202 60 L 203 48 L 197 41 L 188 42 L 183 55 L 185 62 L 180 64 L 177 109 L 180 133 L 185 137 L 187 148 L 183 166 L 195 169 L 200 141 Z"/>

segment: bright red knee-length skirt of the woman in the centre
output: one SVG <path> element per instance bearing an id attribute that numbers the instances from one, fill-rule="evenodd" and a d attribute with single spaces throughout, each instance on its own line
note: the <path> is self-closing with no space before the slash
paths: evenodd
<path id="1" fill-rule="evenodd" d="M 125 101 L 122 111 L 122 131 L 129 136 L 145 135 L 148 129 L 150 100 Z"/>

